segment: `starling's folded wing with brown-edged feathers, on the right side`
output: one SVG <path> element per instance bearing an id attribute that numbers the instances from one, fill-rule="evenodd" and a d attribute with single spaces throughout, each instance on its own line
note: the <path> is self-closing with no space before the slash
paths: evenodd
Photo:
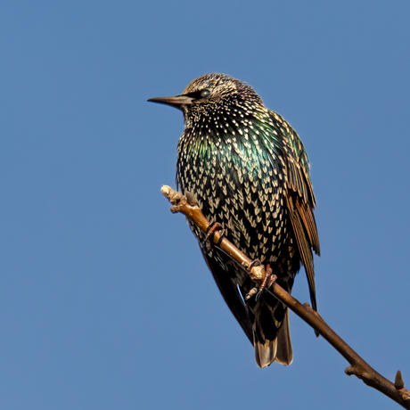
<path id="1" fill-rule="evenodd" d="M 319 236 L 313 209 L 316 205 L 310 181 L 309 163 L 303 144 L 298 135 L 288 125 L 286 138 L 287 151 L 285 168 L 287 190 L 286 205 L 291 217 L 291 225 L 295 234 L 300 258 L 305 267 L 309 284 L 312 307 L 316 309 L 315 267 L 313 252 L 320 254 Z"/>

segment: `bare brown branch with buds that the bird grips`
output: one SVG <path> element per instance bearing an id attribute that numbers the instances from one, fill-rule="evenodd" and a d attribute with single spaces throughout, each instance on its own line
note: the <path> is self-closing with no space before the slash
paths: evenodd
<path id="1" fill-rule="evenodd" d="M 169 186 L 163 185 L 161 193 L 168 198 L 168 201 L 172 204 L 172 212 L 181 212 L 185 217 L 188 217 L 197 225 L 201 231 L 207 232 L 209 228 L 209 221 L 201 212 L 198 207 L 193 194 L 188 193 L 186 198 L 182 193 L 173 191 Z M 242 266 L 248 269 L 250 279 L 260 285 L 265 278 L 266 271 L 264 266 L 251 266 L 251 260 L 238 250 L 231 242 L 229 242 L 225 236 L 222 236 L 218 231 L 213 235 L 214 244 L 224 250 L 228 255 L 234 258 Z M 250 267 L 251 266 L 251 267 Z M 250 267 L 250 269 L 249 269 Z M 267 289 L 272 293 L 276 299 L 283 302 L 284 305 L 289 307 L 296 315 L 301 317 L 307 324 L 316 330 L 325 340 L 327 340 L 333 348 L 335 348 L 341 356 L 343 356 L 350 364 L 345 373 L 355 375 L 359 379 L 365 382 L 370 387 L 381 391 L 384 395 L 388 396 L 392 400 L 396 401 L 400 406 L 410 409 L 410 391 L 405 389 L 404 382 L 401 377 L 401 372 L 396 374 L 396 380 L 394 383 L 388 381 L 386 378 L 377 373 L 372 366 L 368 365 L 365 360 L 358 356 L 357 353 L 348 346 L 348 344 L 340 339 L 340 337 L 332 331 L 328 324 L 324 322 L 324 319 L 310 306 L 302 305 L 297 299 L 293 298 L 287 291 L 284 291 L 277 283 L 273 283 L 272 286 Z"/>

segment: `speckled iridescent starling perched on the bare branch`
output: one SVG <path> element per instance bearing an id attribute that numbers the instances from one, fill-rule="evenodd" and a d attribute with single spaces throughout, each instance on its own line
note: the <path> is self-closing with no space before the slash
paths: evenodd
<path id="1" fill-rule="evenodd" d="M 252 86 L 225 74 L 194 79 L 182 94 L 148 100 L 184 114 L 177 143 L 176 187 L 193 193 L 205 217 L 249 258 L 271 267 L 291 292 L 301 266 L 316 307 L 314 253 L 320 255 L 316 198 L 307 153 L 283 117 L 270 111 Z M 249 298 L 246 270 L 188 220 L 201 252 L 235 319 L 264 368 L 293 360 L 289 311 L 267 291 Z M 248 298 L 247 298 L 248 295 Z"/>

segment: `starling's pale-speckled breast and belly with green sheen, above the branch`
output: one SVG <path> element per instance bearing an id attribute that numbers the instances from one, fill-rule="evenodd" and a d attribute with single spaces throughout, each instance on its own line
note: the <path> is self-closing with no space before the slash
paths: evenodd
<path id="1" fill-rule="evenodd" d="M 281 172 L 262 144 L 237 135 L 196 141 L 183 135 L 178 145 L 180 189 L 193 193 L 204 215 L 250 258 L 274 261 L 286 235 Z"/>

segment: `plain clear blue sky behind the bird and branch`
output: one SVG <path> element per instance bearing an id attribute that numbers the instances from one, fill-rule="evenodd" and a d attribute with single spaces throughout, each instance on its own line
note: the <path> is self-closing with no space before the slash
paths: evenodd
<path id="1" fill-rule="evenodd" d="M 291 123 L 319 312 L 408 389 L 409 21 L 408 0 L 3 2 L 0 408 L 398 408 L 294 314 L 293 363 L 258 369 L 160 194 L 182 114 L 146 100 L 224 72 Z"/>

